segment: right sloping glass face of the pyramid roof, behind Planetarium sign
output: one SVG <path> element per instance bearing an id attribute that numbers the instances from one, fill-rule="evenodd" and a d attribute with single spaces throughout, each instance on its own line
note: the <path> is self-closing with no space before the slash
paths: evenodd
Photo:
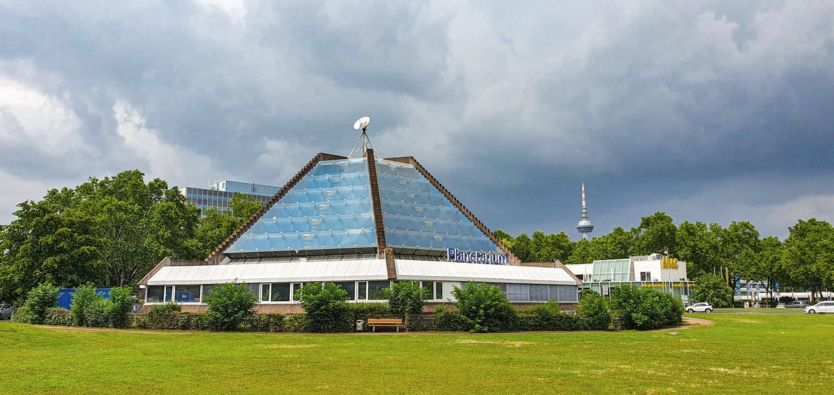
<path id="1" fill-rule="evenodd" d="M 377 160 L 376 173 L 385 243 L 389 247 L 499 251 L 414 166 Z"/>

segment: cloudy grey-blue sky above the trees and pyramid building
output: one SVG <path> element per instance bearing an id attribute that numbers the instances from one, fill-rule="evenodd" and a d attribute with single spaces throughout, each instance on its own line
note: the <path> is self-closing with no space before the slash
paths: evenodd
<path id="1" fill-rule="evenodd" d="M 355 119 L 490 229 L 834 220 L 834 2 L 0 2 L 0 223 L 90 176 L 284 185 Z"/>

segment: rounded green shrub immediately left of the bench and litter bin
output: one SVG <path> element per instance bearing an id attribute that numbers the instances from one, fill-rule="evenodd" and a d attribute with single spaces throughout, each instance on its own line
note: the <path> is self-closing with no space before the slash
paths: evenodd
<path id="1" fill-rule="evenodd" d="M 350 330 L 348 295 L 341 286 L 332 282 L 309 282 L 297 291 L 306 313 L 306 328 L 310 332 L 347 332 Z"/>

